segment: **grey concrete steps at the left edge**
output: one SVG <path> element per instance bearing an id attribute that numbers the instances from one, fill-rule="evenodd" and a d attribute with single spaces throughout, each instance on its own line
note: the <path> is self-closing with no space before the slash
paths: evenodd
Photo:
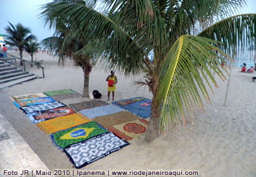
<path id="1" fill-rule="evenodd" d="M 23 71 L 9 63 L 1 61 L 0 59 L 0 90 L 24 81 L 30 81 L 37 77 L 33 73 Z"/>

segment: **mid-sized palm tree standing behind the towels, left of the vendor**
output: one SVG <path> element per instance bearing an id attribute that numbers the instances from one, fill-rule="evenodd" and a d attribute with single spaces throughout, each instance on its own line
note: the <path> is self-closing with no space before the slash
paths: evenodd
<path id="1" fill-rule="evenodd" d="M 63 18 L 62 18 L 63 19 Z M 81 67 L 84 72 L 84 91 L 82 97 L 89 97 L 89 79 L 92 67 L 96 64 L 94 53 L 100 48 L 94 36 L 88 33 L 86 40 L 83 33 L 72 33 L 69 31 L 75 24 L 65 23 L 58 20 L 55 24 L 55 35 L 42 40 L 42 44 L 51 51 L 59 52 L 59 63 L 65 58 L 73 59 L 75 66 Z"/>

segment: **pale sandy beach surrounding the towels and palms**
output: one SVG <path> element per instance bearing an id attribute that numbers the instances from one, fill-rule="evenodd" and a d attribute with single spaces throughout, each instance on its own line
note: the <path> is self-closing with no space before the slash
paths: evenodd
<path id="1" fill-rule="evenodd" d="M 19 56 L 18 52 L 10 52 Z M 38 53 L 34 57 L 43 60 L 45 79 L 34 79 L 0 90 L 0 112 L 30 145 L 49 170 L 73 169 L 65 153 L 51 143 L 48 135 L 32 124 L 26 114 L 14 106 L 9 96 L 36 94 L 51 90 L 71 89 L 82 94 L 83 72 L 73 67 L 71 61 L 65 67 L 58 66 L 58 58 Z M 30 56 L 24 52 L 24 59 Z M 28 71 L 42 76 L 36 67 Z M 251 77 L 256 73 L 239 73 L 232 69 L 230 88 L 226 106 L 224 98 L 228 81 L 217 76 L 218 88 L 209 92 L 212 103 L 205 104 L 205 112 L 197 112 L 197 117 L 186 127 L 178 125 L 175 131 L 146 143 L 144 137 L 133 139 L 131 145 L 112 153 L 81 170 L 168 170 L 196 171 L 199 176 L 256 176 L 256 82 Z M 102 100 L 107 100 L 106 77 L 110 72 L 96 67 L 90 74 L 90 92 L 98 90 Z M 143 96 L 152 98 L 148 87 L 133 85 L 139 76 L 125 77 L 116 73 L 119 83 L 115 100 Z M 77 98 L 65 100 L 65 104 L 85 100 Z"/>

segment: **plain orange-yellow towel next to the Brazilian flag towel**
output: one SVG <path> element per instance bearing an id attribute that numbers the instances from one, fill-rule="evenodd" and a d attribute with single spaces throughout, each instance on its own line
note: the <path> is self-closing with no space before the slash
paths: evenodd
<path id="1" fill-rule="evenodd" d="M 70 114 L 39 122 L 37 126 L 49 135 L 90 121 L 92 120 L 82 116 L 81 114 Z"/>

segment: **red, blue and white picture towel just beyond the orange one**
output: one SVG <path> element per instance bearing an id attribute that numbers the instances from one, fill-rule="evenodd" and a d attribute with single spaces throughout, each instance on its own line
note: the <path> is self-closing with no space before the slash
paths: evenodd
<path id="1" fill-rule="evenodd" d="M 51 118 L 59 117 L 59 116 L 67 116 L 69 114 L 74 114 L 75 111 L 68 107 L 56 108 L 53 110 L 44 110 L 40 112 L 32 112 L 28 113 L 27 116 L 33 123 L 42 122 L 44 120 L 48 120 Z"/>

